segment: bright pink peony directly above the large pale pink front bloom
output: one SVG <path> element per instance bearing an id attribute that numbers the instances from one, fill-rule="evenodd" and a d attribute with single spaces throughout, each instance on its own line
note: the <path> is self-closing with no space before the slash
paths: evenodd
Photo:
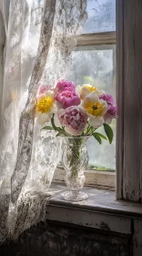
<path id="1" fill-rule="evenodd" d="M 80 98 L 75 91 L 59 91 L 57 92 L 55 99 L 64 109 L 80 104 Z"/>

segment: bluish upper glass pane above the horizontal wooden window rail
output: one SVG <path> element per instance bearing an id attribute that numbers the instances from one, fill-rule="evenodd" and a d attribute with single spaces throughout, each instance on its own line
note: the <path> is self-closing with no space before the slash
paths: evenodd
<path id="1" fill-rule="evenodd" d="M 87 0 L 83 34 L 116 30 L 116 0 Z"/>

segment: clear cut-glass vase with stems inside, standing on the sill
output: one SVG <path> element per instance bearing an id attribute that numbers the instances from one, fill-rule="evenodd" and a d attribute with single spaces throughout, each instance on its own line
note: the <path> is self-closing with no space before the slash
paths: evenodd
<path id="1" fill-rule="evenodd" d="M 66 170 L 66 187 L 63 197 L 69 201 L 85 200 L 88 195 L 81 192 L 86 182 L 84 170 L 88 164 L 86 140 L 88 137 L 64 137 L 62 164 Z"/>

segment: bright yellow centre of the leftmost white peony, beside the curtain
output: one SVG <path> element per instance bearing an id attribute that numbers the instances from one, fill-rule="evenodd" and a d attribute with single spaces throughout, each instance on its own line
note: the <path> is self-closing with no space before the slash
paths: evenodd
<path id="1" fill-rule="evenodd" d="M 42 97 L 37 101 L 37 111 L 38 112 L 49 112 L 53 106 L 54 99 L 50 96 Z"/>

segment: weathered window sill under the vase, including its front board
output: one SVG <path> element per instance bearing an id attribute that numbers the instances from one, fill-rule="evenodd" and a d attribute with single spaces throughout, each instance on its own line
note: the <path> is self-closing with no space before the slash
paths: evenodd
<path id="1" fill-rule="evenodd" d="M 52 198 L 46 208 L 46 219 L 121 234 L 131 234 L 133 220 L 142 219 L 141 205 L 117 201 L 114 191 L 84 189 L 89 195 L 86 201 L 66 202 L 62 198 L 66 187 L 53 184 L 49 189 Z"/>

